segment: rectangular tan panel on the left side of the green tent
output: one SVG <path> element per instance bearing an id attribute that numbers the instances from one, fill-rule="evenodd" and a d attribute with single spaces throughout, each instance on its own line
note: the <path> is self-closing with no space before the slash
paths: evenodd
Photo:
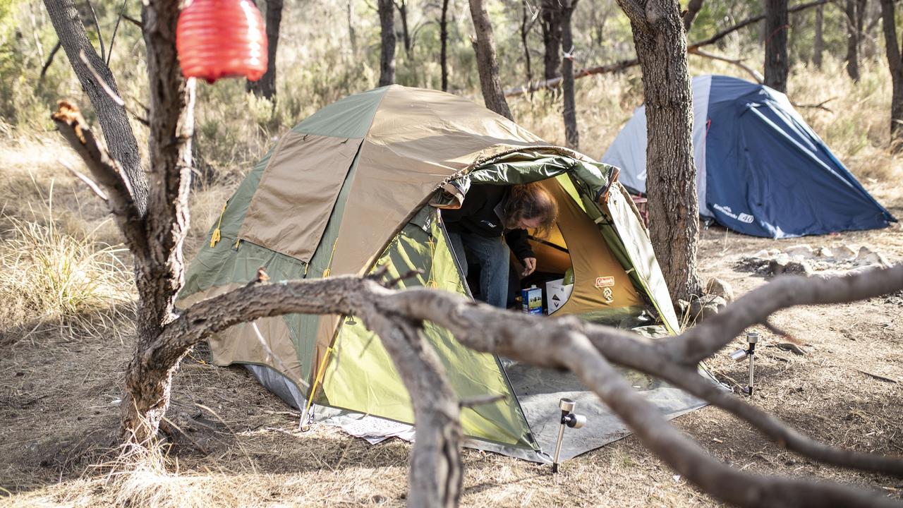
<path id="1" fill-rule="evenodd" d="M 310 262 L 360 141 L 296 132 L 283 136 L 238 238 Z"/>

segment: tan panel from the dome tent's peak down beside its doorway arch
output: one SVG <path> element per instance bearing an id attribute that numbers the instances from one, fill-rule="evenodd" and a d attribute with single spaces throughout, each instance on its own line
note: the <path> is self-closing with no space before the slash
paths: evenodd
<path id="1" fill-rule="evenodd" d="M 363 274 L 444 178 L 519 146 L 545 143 L 470 100 L 388 89 L 360 149 L 330 273 Z"/>

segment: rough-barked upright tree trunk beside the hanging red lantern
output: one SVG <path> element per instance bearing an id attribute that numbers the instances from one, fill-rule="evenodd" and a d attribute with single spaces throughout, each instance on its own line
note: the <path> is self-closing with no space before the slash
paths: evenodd
<path id="1" fill-rule="evenodd" d="M 172 372 L 186 350 L 158 354 L 157 339 L 175 319 L 175 298 L 184 284 L 182 243 L 189 227 L 191 136 L 194 134 L 194 80 L 182 77 L 175 51 L 178 0 L 151 1 L 142 9 L 147 77 L 150 83 L 148 153 L 149 209 L 146 231 L 151 246 L 135 258 L 138 287 L 135 355 L 126 367 L 122 437 L 145 444 L 154 438 L 169 407 Z M 165 351 L 165 350 L 163 350 Z"/>

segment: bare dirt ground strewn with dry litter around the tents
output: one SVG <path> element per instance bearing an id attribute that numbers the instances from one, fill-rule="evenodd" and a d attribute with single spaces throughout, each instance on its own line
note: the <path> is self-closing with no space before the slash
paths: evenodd
<path id="1" fill-rule="evenodd" d="M 867 187 L 903 218 L 903 193 L 890 184 Z M 796 240 L 745 237 L 719 227 L 701 236 L 703 277 L 728 281 L 738 296 L 768 284 L 738 263 L 759 249 L 847 244 L 870 247 L 891 262 L 903 260 L 898 224 Z M 404 504 L 408 444 L 393 439 L 369 446 L 333 428 L 296 431 L 296 413 L 244 369 L 204 362 L 203 347 L 182 363 L 174 380 L 168 415 L 182 433 L 163 447 L 167 470 L 117 467 L 110 446 L 131 343 L 127 320 L 109 315 L 82 316 L 79 325 L 37 321 L 0 330 L 0 505 Z M 783 341 L 759 330 L 759 388 L 749 401 L 827 443 L 900 455 L 901 315 L 900 293 L 777 314 L 774 324 L 804 343 L 805 355 L 777 348 Z M 740 341 L 729 349 L 736 345 Z M 746 364 L 732 362 L 728 352 L 709 362 L 712 372 L 721 381 L 745 385 Z M 744 471 L 812 476 L 883 489 L 889 496 L 903 492 L 897 478 L 820 466 L 787 453 L 719 409 L 694 411 L 675 425 Z M 473 450 L 464 451 L 464 460 L 462 504 L 467 506 L 717 504 L 633 437 L 565 463 L 558 475 L 548 466 Z"/>

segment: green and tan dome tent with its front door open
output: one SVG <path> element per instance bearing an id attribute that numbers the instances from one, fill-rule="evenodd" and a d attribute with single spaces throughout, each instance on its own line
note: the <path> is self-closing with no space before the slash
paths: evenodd
<path id="1" fill-rule="evenodd" d="M 615 173 L 467 99 L 396 85 L 359 93 L 293 127 L 247 174 L 191 262 L 180 305 L 244 286 L 259 267 L 273 282 L 380 267 L 395 277 L 419 268 L 422 275 L 405 287 L 470 296 L 442 209 L 460 206 L 473 184 L 542 182 L 560 217 L 551 237 L 535 244 L 538 264 L 558 274 L 573 268 L 574 276 L 573 293 L 555 315 L 673 334 L 679 325 L 664 278 L 633 202 L 610 183 Z M 462 409 L 474 447 L 547 460 L 561 397 L 577 400 L 589 418 L 569 433 L 563 458 L 628 434 L 571 374 L 471 351 L 435 325 L 425 334 L 461 399 L 506 396 Z M 211 338 L 210 349 L 216 364 L 247 364 L 304 415 L 329 414 L 358 435 L 368 422 L 386 425 L 363 434 L 394 434 L 413 423 L 386 351 L 353 316 L 258 319 Z M 701 406 L 660 381 L 628 375 L 667 417 Z"/>

